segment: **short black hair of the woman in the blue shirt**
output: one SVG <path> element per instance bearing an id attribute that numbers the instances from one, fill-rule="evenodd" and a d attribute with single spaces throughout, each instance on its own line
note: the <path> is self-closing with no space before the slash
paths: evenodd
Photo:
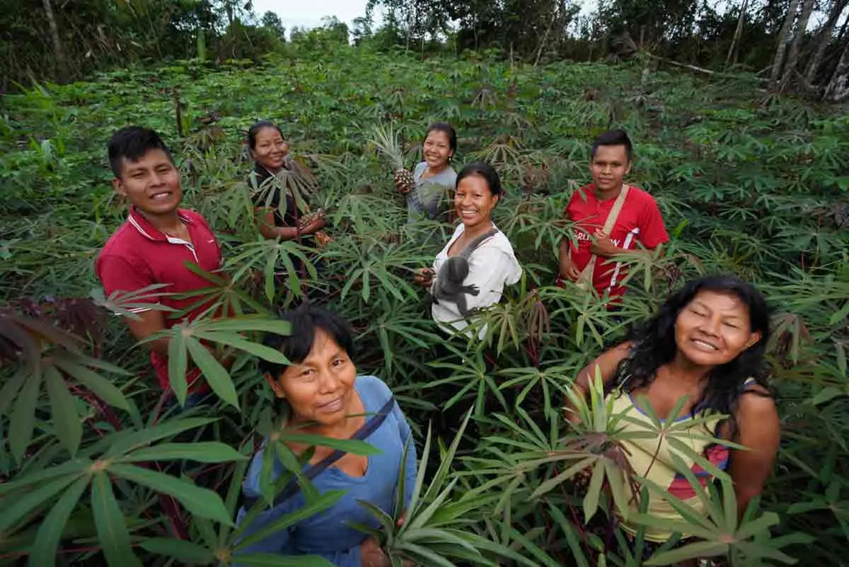
<path id="1" fill-rule="evenodd" d="M 280 318 L 290 323 L 290 335 L 270 333 L 265 336 L 262 344 L 283 353 L 290 363 L 299 364 L 309 356 L 315 343 L 316 331 L 319 329 L 328 334 L 349 357 L 354 357 L 354 333 L 351 325 L 338 313 L 307 302 L 283 313 Z M 277 379 L 288 365 L 260 359 L 259 368 L 261 373 L 267 373 Z"/>

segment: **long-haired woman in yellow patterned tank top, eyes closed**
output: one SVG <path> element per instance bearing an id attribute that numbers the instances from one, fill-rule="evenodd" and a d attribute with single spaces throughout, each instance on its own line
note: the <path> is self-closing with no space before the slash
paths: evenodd
<path id="1" fill-rule="evenodd" d="M 665 488 L 697 514 L 706 514 L 697 497 L 699 487 L 679 470 L 683 463 L 709 493 L 711 474 L 691 456 L 700 454 L 728 471 L 742 516 L 761 493 L 779 446 L 779 416 L 766 383 L 768 338 L 769 309 L 757 289 L 733 276 L 699 278 L 670 296 L 654 317 L 633 330 L 630 340 L 584 368 L 574 387 L 586 395 L 598 369 L 613 413 L 627 416 L 618 422 L 624 429 L 637 430 L 645 422 L 646 430 L 645 404 L 661 421 L 681 422 L 669 436 L 689 446 L 689 452 L 677 451 L 667 438 L 627 437 L 622 445 L 633 473 Z M 683 407 L 670 415 L 682 398 Z M 570 412 L 569 418 L 574 423 L 575 414 Z M 746 449 L 711 442 L 711 436 Z M 632 508 L 639 503 L 632 501 Z M 648 514 L 682 519 L 655 491 L 649 491 Z M 633 534 L 638 525 L 625 519 L 622 528 Z M 672 536 L 653 527 L 645 532 L 655 545 Z"/>

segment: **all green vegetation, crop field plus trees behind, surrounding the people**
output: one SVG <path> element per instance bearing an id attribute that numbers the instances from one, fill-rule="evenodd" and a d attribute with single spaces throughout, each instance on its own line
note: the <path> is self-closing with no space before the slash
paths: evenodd
<path id="1" fill-rule="evenodd" d="M 846 2 L 610 2 L 587 16 L 543 0 L 371 8 L 384 14 L 374 29 L 365 14 L 351 29 L 330 18 L 284 33 L 250 3 L 4 5 L 0 564 L 231 564 L 245 543 L 233 517 L 246 459 L 262 435 L 280 433 L 256 372 L 258 357 L 274 355 L 254 341 L 284 331 L 273 312 L 306 289 L 354 324 L 358 368 L 391 385 L 429 458 L 406 527 L 383 518 L 393 558 L 846 564 Z M 297 245 L 257 237 L 243 141 L 258 119 L 278 121 L 290 139 L 298 166 L 284 181 L 328 211 L 320 276 L 291 272 L 305 252 Z M 484 315 L 490 371 L 475 349 L 459 365 L 428 354 L 440 335 L 410 276 L 452 224 L 405 227 L 404 201 L 371 143 L 391 127 L 413 166 L 437 119 L 458 128 L 458 163 L 486 160 L 503 177 L 495 220 L 526 271 Z M 190 362 L 216 392 L 211 406 L 179 415 L 162 407 L 143 348 L 110 315 L 138 298 L 104 297 L 93 275 L 94 255 L 127 214 L 104 148 L 128 123 L 171 145 L 185 203 L 211 222 L 230 276 L 210 276 L 200 294 L 233 317 L 171 333 L 178 396 Z M 672 236 L 664 255 L 633 265 L 623 320 L 553 285 L 556 244 L 571 234 L 562 211 L 588 182 L 590 141 L 610 127 L 635 140 L 632 182 L 655 196 Z M 441 238 L 425 238 L 433 233 Z M 623 501 L 610 480 L 625 474 L 616 416 L 584 407 L 585 425 L 573 429 L 559 408 L 579 368 L 706 272 L 751 280 L 775 308 L 779 462 L 742 522 L 719 474 L 725 490 L 711 517 L 683 514 L 698 547 L 643 558 L 610 521 Z M 205 356 L 200 340 L 232 352 L 233 368 Z M 446 400 L 446 381 L 464 390 Z M 485 411 L 486 400 L 499 411 Z M 447 404 L 474 408 L 459 454 L 450 439 L 426 441 Z M 650 433 L 669 427 L 658 421 Z M 299 470 L 282 441 L 275 454 Z M 573 477 L 588 466 L 584 486 Z M 338 497 L 305 486 L 304 514 Z"/>

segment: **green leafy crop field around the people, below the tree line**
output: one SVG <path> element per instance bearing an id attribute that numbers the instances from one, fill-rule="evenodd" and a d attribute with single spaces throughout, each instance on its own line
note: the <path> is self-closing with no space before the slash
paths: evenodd
<path id="1" fill-rule="evenodd" d="M 318 180 L 313 205 L 329 216 L 322 271 L 306 278 L 276 279 L 302 252 L 256 233 L 243 139 L 260 119 L 283 127 Z M 406 204 L 368 143 L 374 126 L 391 121 L 413 166 L 436 120 L 458 130 L 456 169 L 480 159 L 501 174 L 507 195 L 495 220 L 525 269 L 484 315 L 494 368 L 482 350 L 467 354 L 451 377 L 467 387 L 450 400 L 438 376 L 454 359 L 432 355 L 441 336 L 412 273 L 430 265 L 453 227 L 405 226 Z M 306 289 L 323 298 L 353 323 L 359 372 L 391 385 L 419 451 L 436 411 L 474 407 L 478 424 L 453 459 L 452 451 L 441 458 L 436 440 L 429 446 L 423 501 L 447 498 L 421 516 L 440 533 L 422 543 L 436 555 L 460 561 L 459 540 L 481 562 L 505 565 L 681 559 L 667 550 L 655 563 L 636 559 L 618 529 L 585 528 L 585 517 L 604 523 L 616 503 L 600 482 L 583 497 L 560 474 L 577 462 L 558 458 L 565 442 L 592 431 L 565 427 L 559 408 L 576 372 L 671 289 L 700 273 L 734 272 L 775 308 L 769 358 L 783 441 L 760 510 L 737 525 L 723 512 L 733 502 L 720 501 L 700 536 L 735 565 L 846 564 L 846 109 L 767 95 L 751 76 L 706 79 L 649 59 L 535 68 L 338 46 L 292 49 L 261 65 L 117 70 L 0 101 L 0 564 L 52 564 L 57 548 L 57 564 L 230 564 L 245 459 L 257 432 L 273 428 L 272 394 L 256 371 L 261 352 L 238 343 L 239 333 L 256 339 L 267 319 L 192 323 L 183 339 L 175 330 L 188 358 L 200 338 L 238 347 L 229 372 L 195 360 L 219 399 L 178 416 L 162 411 L 146 353 L 110 314 L 131 306 L 98 291 L 94 257 L 127 212 L 110 188 L 105 144 L 127 124 L 166 138 L 184 205 L 222 242 L 230 279 L 211 282 L 207 295 L 263 316 Z M 570 232 L 562 212 L 589 181 L 589 144 L 610 127 L 633 138 L 630 181 L 655 196 L 672 238 L 662 257 L 632 267 L 616 320 L 576 289 L 554 286 L 557 245 Z M 487 398 L 503 405 L 500 414 L 485 412 Z M 176 444 L 192 438 L 216 441 Z M 203 466 L 166 466 L 183 458 Z M 161 471 L 132 464 L 144 461 Z M 415 532 L 396 535 L 388 547 Z"/>

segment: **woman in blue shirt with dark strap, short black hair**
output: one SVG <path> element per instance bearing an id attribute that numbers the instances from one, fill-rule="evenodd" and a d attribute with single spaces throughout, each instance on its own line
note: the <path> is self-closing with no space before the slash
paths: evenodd
<path id="1" fill-rule="evenodd" d="M 349 439 L 368 419 L 374 419 L 391 399 L 392 393 L 382 380 L 374 376 L 357 376 L 351 362 L 353 335 L 348 324 L 335 313 L 305 304 L 284 315 L 289 321 L 290 336 L 270 335 L 266 345 L 282 352 L 290 365 L 264 362 L 261 370 L 274 394 L 290 407 L 287 427 L 299 433 Z M 409 502 L 416 477 L 416 452 L 407 419 L 393 404 L 380 427 L 364 439 L 380 450 L 377 455 L 363 457 L 346 453 L 329 468 L 312 479 L 319 492 L 346 490 L 335 505 L 320 514 L 302 519 L 287 530 L 268 536 L 239 553 L 281 553 L 284 555 L 318 555 L 339 567 L 383 567 L 388 559 L 374 538 L 367 537 L 351 525 L 379 523 L 357 501 L 371 502 L 392 514 L 398 473 L 404 446 L 409 442 L 406 468 L 406 503 Z M 296 454 L 306 445 L 287 443 Z M 245 497 L 260 497 L 260 474 L 263 449 L 250 463 L 245 477 Z M 316 447 L 310 465 L 321 462 L 334 450 Z M 283 472 L 274 461 L 273 475 Z M 302 508 L 306 503 L 299 491 L 294 497 L 267 509 L 245 531 L 250 536 L 284 514 Z M 239 521 L 245 510 L 239 511 Z"/>

